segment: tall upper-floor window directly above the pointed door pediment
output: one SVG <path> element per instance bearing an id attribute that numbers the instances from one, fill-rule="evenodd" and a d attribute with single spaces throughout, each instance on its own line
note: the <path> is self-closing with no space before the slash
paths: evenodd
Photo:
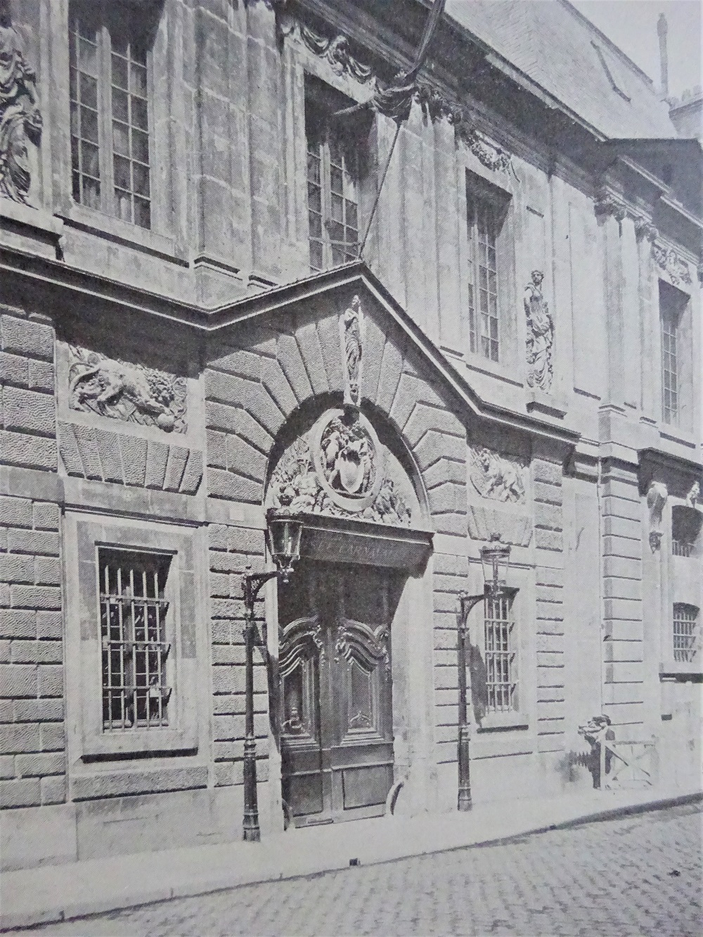
<path id="1" fill-rule="evenodd" d="M 307 80 L 307 223 L 312 271 L 356 260 L 359 253 L 363 144 L 348 121 L 330 119 L 349 104 L 322 82 Z"/>

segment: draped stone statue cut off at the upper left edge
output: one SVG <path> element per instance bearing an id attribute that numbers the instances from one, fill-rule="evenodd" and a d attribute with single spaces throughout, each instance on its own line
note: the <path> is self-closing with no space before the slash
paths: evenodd
<path id="1" fill-rule="evenodd" d="M 0 196 L 25 204 L 32 181 L 27 141 L 38 143 L 41 133 L 36 80 L 12 25 L 9 0 L 0 0 Z"/>

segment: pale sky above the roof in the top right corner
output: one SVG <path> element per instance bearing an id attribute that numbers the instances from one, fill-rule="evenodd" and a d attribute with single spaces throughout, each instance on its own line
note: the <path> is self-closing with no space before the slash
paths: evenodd
<path id="1" fill-rule="evenodd" d="M 659 88 L 657 20 L 668 22 L 669 95 L 701 83 L 700 0 L 571 0 Z"/>

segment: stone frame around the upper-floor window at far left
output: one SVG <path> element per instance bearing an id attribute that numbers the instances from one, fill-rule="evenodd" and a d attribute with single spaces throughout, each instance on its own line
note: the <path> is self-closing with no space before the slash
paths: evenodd
<path id="1" fill-rule="evenodd" d="M 179 100 L 174 97 L 175 86 L 166 82 L 168 94 L 157 95 L 157 86 L 164 85 L 168 72 L 175 67 L 172 52 L 173 25 L 164 14 L 168 0 L 160 0 L 148 9 L 136 0 L 119 0 L 126 7 L 131 17 L 141 17 L 144 30 L 150 33 L 148 53 L 148 98 L 149 98 L 149 162 L 151 227 L 123 221 L 114 214 L 108 214 L 97 208 L 73 201 L 72 197 L 72 159 L 69 103 L 69 27 L 74 7 L 81 7 L 89 0 L 72 0 L 59 12 L 52 8 L 52 35 L 54 42 L 60 43 L 60 51 L 54 56 L 52 77 L 63 90 L 58 98 L 56 121 L 52 134 L 52 163 L 55 167 L 53 186 L 53 212 L 63 217 L 71 226 L 106 237 L 117 243 L 134 246 L 146 253 L 155 254 L 165 259 L 182 259 L 184 246 L 178 230 L 176 203 L 182 201 L 185 183 L 172 166 L 177 165 L 180 144 L 172 139 L 169 129 L 170 114 L 178 110 Z M 158 47 L 158 52 L 157 52 Z M 109 121 L 110 115 L 104 115 Z M 174 157 L 175 154 L 175 157 Z M 112 146 L 111 154 L 112 158 Z M 167 167 L 163 171 L 163 167 Z"/>

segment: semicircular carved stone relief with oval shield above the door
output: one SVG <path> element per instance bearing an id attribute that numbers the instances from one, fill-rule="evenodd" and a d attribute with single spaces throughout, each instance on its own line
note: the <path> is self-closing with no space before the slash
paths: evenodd
<path id="1" fill-rule="evenodd" d="M 407 527 L 411 508 L 401 492 L 402 480 L 389 468 L 366 417 L 353 410 L 327 410 L 279 459 L 268 500 L 292 513 Z"/>

